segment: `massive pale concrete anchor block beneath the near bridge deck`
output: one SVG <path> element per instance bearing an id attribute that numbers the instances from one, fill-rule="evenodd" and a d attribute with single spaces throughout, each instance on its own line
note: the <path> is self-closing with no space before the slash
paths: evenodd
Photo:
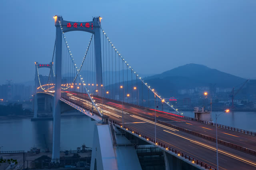
<path id="1" fill-rule="evenodd" d="M 90 170 L 131 169 L 142 170 L 134 144 L 112 125 L 95 125 Z"/>

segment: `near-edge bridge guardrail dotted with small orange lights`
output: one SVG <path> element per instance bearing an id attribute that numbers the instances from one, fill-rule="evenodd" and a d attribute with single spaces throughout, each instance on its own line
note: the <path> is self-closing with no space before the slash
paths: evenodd
<path id="1" fill-rule="evenodd" d="M 210 166 L 210 165 L 208 165 L 208 164 L 206 164 L 206 163 L 204 163 L 204 162 L 202 162 L 200 160 L 197 160 L 196 158 L 188 156 L 187 154 L 184 154 L 183 152 L 180 152 L 179 150 L 176 150 L 176 149 L 174 149 L 174 148 L 172 148 L 172 147 L 170 147 L 170 146 L 168 146 L 166 144 L 163 144 L 162 142 L 154 140 L 153 138 L 150 138 L 149 136 L 146 136 L 146 135 L 144 135 L 144 134 L 142 134 L 142 133 L 140 133 L 140 132 L 138 132 L 138 131 L 136 131 L 136 130 L 134 130 L 132 128 L 126 127 L 125 125 L 123 126 L 122 123 L 119 123 L 119 122 L 114 121 L 112 119 L 109 119 L 109 121 L 111 123 L 115 124 L 115 125 L 118 125 L 120 128 L 124 128 L 127 131 L 130 131 L 133 134 L 136 134 L 139 137 L 144 138 L 145 140 L 148 140 L 149 142 L 154 143 L 155 145 L 161 147 L 162 150 L 167 150 L 167 151 L 173 152 L 173 153 L 177 154 L 177 156 L 181 156 L 181 157 L 191 161 L 192 164 L 197 164 L 199 166 L 202 166 L 205 169 L 217 170 L 216 168 L 213 168 L 212 166 Z"/>

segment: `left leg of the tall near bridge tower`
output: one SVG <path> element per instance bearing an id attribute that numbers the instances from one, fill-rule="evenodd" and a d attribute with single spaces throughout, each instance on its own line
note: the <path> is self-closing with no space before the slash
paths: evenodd
<path id="1" fill-rule="evenodd" d="M 54 93 L 54 112 L 53 112 L 53 144 L 52 144 L 52 162 L 59 162 L 60 159 L 60 112 L 61 112 L 61 67 L 62 67 L 62 31 L 58 17 L 56 26 L 56 58 L 55 58 L 55 93 Z"/>

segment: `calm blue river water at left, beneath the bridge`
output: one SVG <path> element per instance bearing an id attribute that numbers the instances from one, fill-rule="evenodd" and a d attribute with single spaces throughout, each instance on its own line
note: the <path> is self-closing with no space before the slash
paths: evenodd
<path id="1" fill-rule="evenodd" d="M 86 144 L 92 147 L 95 121 L 87 116 L 61 118 L 60 149 L 76 150 Z M 53 121 L 30 121 L 30 119 L 0 120 L 0 146 L 2 150 L 30 150 L 38 147 L 52 150 Z"/>

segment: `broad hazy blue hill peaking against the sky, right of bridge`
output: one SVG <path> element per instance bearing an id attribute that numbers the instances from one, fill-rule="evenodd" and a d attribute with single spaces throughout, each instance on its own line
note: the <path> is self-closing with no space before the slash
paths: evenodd
<path id="1" fill-rule="evenodd" d="M 211 69 L 199 64 L 186 64 L 161 74 L 146 77 L 147 82 L 155 84 L 156 88 L 164 89 L 189 89 L 194 87 L 209 86 L 232 88 L 246 79 Z M 159 87 L 160 86 L 160 87 Z"/>

